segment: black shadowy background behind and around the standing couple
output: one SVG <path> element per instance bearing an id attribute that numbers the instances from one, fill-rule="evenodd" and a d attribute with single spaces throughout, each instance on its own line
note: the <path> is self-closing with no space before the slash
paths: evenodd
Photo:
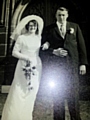
<path id="1" fill-rule="evenodd" d="M 10 0 L 12 1 L 12 0 Z M 16 0 L 15 9 L 17 8 L 20 0 Z M 56 9 L 60 6 L 66 7 L 69 9 L 69 21 L 76 22 L 79 24 L 87 49 L 87 74 L 80 76 L 80 86 L 81 87 L 81 98 L 89 99 L 90 97 L 90 39 L 89 39 L 89 1 L 80 1 L 80 0 L 21 0 L 22 4 L 29 2 L 27 8 L 23 12 L 21 19 L 30 14 L 36 14 L 43 18 L 44 27 L 55 22 L 55 12 Z M 0 4 L 0 14 L 2 12 L 2 0 Z M 14 10 L 15 11 L 15 10 Z M 10 18 L 12 20 L 12 16 Z M 9 21 L 10 25 L 11 21 Z M 1 65 L 4 64 L 3 72 L 3 82 L 2 84 L 10 85 L 13 80 L 15 65 L 17 60 L 11 56 L 10 48 L 10 26 L 8 32 L 8 41 L 7 41 L 7 55 Z M 4 41 L 4 40 L 3 40 Z M 10 52 L 9 52 L 10 51 Z M 2 69 L 1 69 L 2 71 Z M 1 72 L 2 74 L 2 72 Z"/>

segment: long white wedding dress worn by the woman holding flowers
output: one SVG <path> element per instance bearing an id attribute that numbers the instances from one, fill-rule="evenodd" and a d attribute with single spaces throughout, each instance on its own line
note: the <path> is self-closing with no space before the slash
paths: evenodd
<path id="1" fill-rule="evenodd" d="M 19 58 L 14 79 L 7 96 L 1 120 L 32 120 L 32 113 L 36 95 L 39 89 L 42 70 L 39 48 L 40 36 L 19 36 L 13 51 Z M 20 55 L 18 52 L 21 51 Z M 31 64 L 25 68 L 26 61 L 22 58 L 30 57 Z M 34 67 L 34 69 L 32 69 Z M 31 70 L 30 79 L 26 78 L 25 70 Z M 31 82 L 29 84 L 29 82 Z M 30 86 L 32 89 L 30 89 Z"/>

